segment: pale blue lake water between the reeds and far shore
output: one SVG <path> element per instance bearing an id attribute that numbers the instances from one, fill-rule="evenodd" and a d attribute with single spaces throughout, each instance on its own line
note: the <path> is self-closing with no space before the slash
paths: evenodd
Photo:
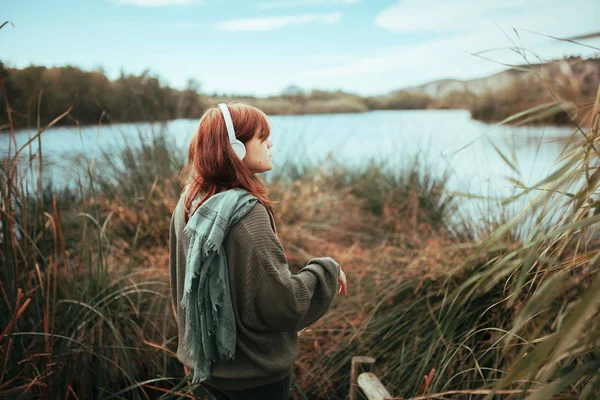
<path id="1" fill-rule="evenodd" d="M 401 166 L 419 153 L 424 167 L 434 174 L 450 172 L 448 188 L 485 196 L 506 196 L 512 184 L 505 178 L 516 173 L 494 149 L 495 144 L 510 156 L 514 151 L 519 179 L 534 184 L 554 167 L 562 144 L 556 139 L 568 136 L 565 127 L 497 127 L 470 118 L 463 110 L 373 111 L 361 114 L 273 116 L 271 140 L 274 143 L 273 171 L 286 162 L 324 160 L 328 154 L 349 166 L 364 165 L 369 159 L 386 160 Z M 197 120 L 175 120 L 162 126 L 173 142 L 187 151 Z M 73 171 L 65 165 L 70 156 L 89 156 L 102 148 L 118 152 L 124 140 L 137 141 L 138 132 L 157 131 L 158 124 L 137 123 L 113 126 L 50 129 L 42 134 L 43 157 L 49 176 L 59 185 Z M 6 155 L 8 138 L 2 132 L 0 154 Z M 16 132 L 20 146 L 35 132 Z M 37 150 L 37 142 L 31 152 Z M 24 155 L 29 154 L 29 149 Z M 184 153 L 185 154 L 185 153 Z M 269 174 L 264 175 L 269 179 Z"/>

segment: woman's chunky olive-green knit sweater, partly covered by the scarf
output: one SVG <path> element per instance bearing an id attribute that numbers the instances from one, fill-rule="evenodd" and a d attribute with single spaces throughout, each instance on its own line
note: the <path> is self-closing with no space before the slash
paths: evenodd
<path id="1" fill-rule="evenodd" d="M 177 312 L 177 358 L 193 370 L 186 351 L 181 309 L 189 243 L 183 233 L 184 198 L 171 217 L 169 264 L 171 297 Z M 233 360 L 212 366 L 208 385 L 243 390 L 283 379 L 298 358 L 298 331 L 321 318 L 338 291 L 339 264 L 330 257 L 313 258 L 292 274 L 271 226 L 265 206 L 257 202 L 231 227 L 224 242 L 236 320 Z"/>

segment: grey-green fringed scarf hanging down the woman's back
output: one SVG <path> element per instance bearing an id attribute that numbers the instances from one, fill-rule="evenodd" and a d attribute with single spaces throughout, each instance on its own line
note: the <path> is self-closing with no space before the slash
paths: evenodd
<path id="1" fill-rule="evenodd" d="M 256 201 L 243 189 L 217 193 L 196 210 L 183 230 L 190 239 L 181 306 L 185 346 L 194 362 L 192 383 L 209 379 L 215 361 L 235 355 L 235 317 L 223 241 Z"/>

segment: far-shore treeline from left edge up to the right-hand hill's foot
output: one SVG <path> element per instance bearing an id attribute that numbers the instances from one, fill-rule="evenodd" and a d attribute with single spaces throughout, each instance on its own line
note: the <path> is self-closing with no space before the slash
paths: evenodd
<path id="1" fill-rule="evenodd" d="M 278 96 L 202 94 L 200 84 L 189 80 L 184 90 L 164 84 L 145 71 L 140 75 L 121 73 L 109 80 L 104 71 L 82 71 L 73 66 L 8 68 L 0 63 L 15 127 L 45 125 L 73 107 L 60 124 L 97 124 L 165 121 L 199 118 L 221 101 L 255 105 L 269 115 L 353 113 L 370 110 L 426 108 L 432 99 L 420 93 L 398 91 L 386 96 L 362 97 L 343 91 L 304 91 L 290 86 Z M 8 123 L 4 93 L 0 93 L 0 125 Z"/>

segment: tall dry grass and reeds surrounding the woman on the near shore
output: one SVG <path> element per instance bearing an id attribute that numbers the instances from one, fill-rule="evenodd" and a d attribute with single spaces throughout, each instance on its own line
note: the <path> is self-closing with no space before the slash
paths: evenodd
<path id="1" fill-rule="evenodd" d="M 334 162 L 274 177 L 291 267 L 330 255 L 349 277 L 349 295 L 301 336 L 294 396 L 343 398 L 350 359 L 363 354 L 405 397 L 593 398 L 598 141 L 596 117 L 592 130 L 574 132 L 566 164 L 523 190 L 544 188 L 530 207 L 536 213 L 503 222 L 481 242 L 448 229 L 454 200 L 444 195 L 445 177 L 428 176 L 418 162 L 402 171 Z M 79 196 L 27 192 L 12 168 L 19 164 L 5 161 L 2 396 L 194 393 L 173 354 L 165 246 L 183 153 L 160 135 L 141 143 L 96 160 L 103 175 L 80 182 Z M 528 223 L 523 240 L 507 235 L 539 210 L 564 210 L 564 218 L 550 229 Z"/>

